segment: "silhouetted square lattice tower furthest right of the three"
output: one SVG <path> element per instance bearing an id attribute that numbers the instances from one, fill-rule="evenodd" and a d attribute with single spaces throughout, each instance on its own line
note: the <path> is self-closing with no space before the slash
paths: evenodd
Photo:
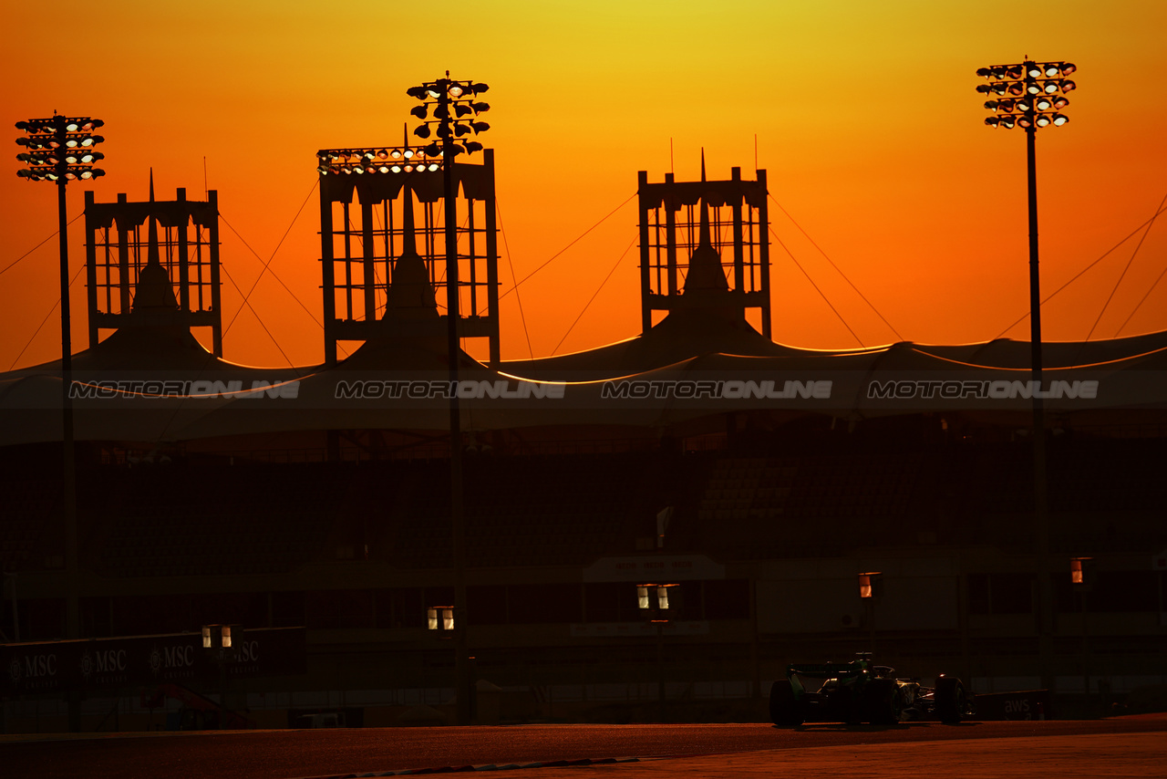
<path id="1" fill-rule="evenodd" d="M 648 172 L 637 175 L 643 331 L 656 311 L 740 306 L 742 315 L 760 309 L 762 335 L 770 338 L 766 171 L 756 181 L 743 181 L 741 168 L 731 168 L 728 181 L 706 181 L 703 157 L 700 181 L 666 173 L 664 182 L 649 183 Z"/>

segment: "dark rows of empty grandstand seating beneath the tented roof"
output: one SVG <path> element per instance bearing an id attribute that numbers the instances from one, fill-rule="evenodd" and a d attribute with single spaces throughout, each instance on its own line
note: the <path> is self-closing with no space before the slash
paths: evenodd
<path id="1" fill-rule="evenodd" d="M 1025 441 L 750 451 L 471 455 L 464 460 L 471 568 L 587 565 L 643 551 L 676 512 L 666 549 L 715 559 L 844 554 L 916 543 L 1033 542 Z M 1055 550 L 1154 544 L 1160 439 L 1055 437 Z M 83 468 L 82 563 L 113 577 L 279 573 L 310 561 L 452 564 L 447 460 Z M 43 473 L 4 477 L 5 570 L 60 568 L 61 491 Z M 1140 520 L 1139 517 L 1145 517 Z"/>

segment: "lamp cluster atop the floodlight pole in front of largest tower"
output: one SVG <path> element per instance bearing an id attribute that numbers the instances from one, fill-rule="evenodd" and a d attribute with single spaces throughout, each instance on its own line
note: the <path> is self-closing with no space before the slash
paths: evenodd
<path id="1" fill-rule="evenodd" d="M 410 110 L 422 120 L 413 134 L 422 140 L 435 137 L 426 147 L 427 154 L 428 149 L 441 149 L 446 144 L 449 144 L 452 158 L 481 152 L 482 144 L 464 138 L 490 130 L 488 123 L 477 118 L 489 111 L 490 105 L 476 99 L 490 88 L 481 82 L 454 81 L 448 72 L 446 76 L 405 90 L 410 97 L 421 100 L 421 105 Z"/>

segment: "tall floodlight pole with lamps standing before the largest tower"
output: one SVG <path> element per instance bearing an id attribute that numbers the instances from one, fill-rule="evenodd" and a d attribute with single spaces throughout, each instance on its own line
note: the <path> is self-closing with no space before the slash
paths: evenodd
<path id="1" fill-rule="evenodd" d="M 450 480 L 450 535 L 454 545 L 454 674 L 457 686 L 457 724 L 470 724 L 470 660 L 466 640 L 466 510 L 462 500 L 462 423 L 457 404 L 457 357 L 459 349 L 459 283 L 457 283 L 457 194 L 454 187 L 454 160 L 459 154 L 482 151 L 482 144 L 463 138 L 490 130 L 477 116 L 490 110 L 487 103 L 476 98 L 490 89 L 473 81 L 454 81 L 446 71 L 445 78 L 426 82 L 405 90 L 410 97 L 421 100 L 410 113 L 422 124 L 413 130 L 418 138 L 436 140 L 426 147 L 426 157 L 441 157 L 442 195 L 445 197 L 446 225 L 446 343 L 449 355 L 449 480 Z M 433 118 L 429 111 L 433 109 Z"/>

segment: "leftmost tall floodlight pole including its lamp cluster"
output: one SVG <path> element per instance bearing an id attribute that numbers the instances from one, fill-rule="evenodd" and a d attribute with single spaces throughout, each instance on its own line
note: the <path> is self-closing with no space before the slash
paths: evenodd
<path id="1" fill-rule="evenodd" d="M 16 175 L 29 181 L 51 181 L 57 185 L 57 232 L 61 236 L 61 450 L 63 489 L 62 502 L 65 535 L 65 635 L 81 638 L 79 568 L 77 558 L 77 464 L 74 453 L 72 402 L 72 338 L 69 324 L 69 217 L 65 208 L 65 186 L 70 181 L 96 179 L 105 171 L 93 164 L 105 155 L 95 151 L 104 138 L 93 131 L 104 125 L 90 117 L 61 117 L 18 121 L 16 130 L 25 135 L 16 144 L 25 151 L 16 159 L 26 166 Z M 81 730 L 79 698 L 69 698 L 69 729 Z"/>

